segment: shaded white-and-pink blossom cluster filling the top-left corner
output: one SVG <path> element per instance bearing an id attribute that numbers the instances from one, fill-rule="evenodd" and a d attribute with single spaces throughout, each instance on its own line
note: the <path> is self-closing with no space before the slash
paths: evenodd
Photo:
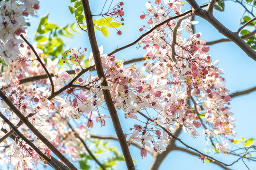
<path id="1" fill-rule="evenodd" d="M 0 56 L 4 57 L 9 65 L 10 59 L 17 59 L 19 45 L 18 39 L 21 33 L 26 33 L 25 17 L 35 16 L 35 10 L 39 9 L 38 0 L 1 0 L 0 2 Z"/>

